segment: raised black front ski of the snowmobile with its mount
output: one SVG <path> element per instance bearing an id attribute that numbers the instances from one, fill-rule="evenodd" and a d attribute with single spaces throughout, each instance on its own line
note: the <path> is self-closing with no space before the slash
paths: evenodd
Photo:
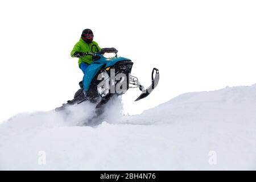
<path id="1" fill-rule="evenodd" d="M 155 72 L 155 78 L 154 78 L 154 72 Z M 138 85 L 139 89 L 142 91 L 142 94 L 135 101 L 139 101 L 142 98 L 147 97 L 158 85 L 159 70 L 156 68 L 153 68 L 153 70 L 152 70 L 151 81 L 152 81 L 151 85 L 146 90 L 144 89 L 144 87 L 141 84 Z"/>

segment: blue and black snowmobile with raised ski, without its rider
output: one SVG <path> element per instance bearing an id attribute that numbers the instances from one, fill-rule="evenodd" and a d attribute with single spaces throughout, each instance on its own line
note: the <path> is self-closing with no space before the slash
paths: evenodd
<path id="1" fill-rule="evenodd" d="M 80 81 L 80 89 L 77 90 L 74 98 L 57 107 L 55 111 L 64 110 L 67 106 L 80 104 L 84 101 L 95 103 L 96 109 L 98 109 L 113 96 L 122 95 L 130 88 L 139 88 L 142 91 L 135 101 L 147 97 L 158 85 L 159 70 L 156 68 L 152 70 L 152 83 L 145 89 L 137 77 L 130 75 L 133 62 L 125 57 L 117 56 L 117 52 L 115 48 L 102 48 L 97 53 L 84 53 L 84 55 L 93 57 L 92 64 L 86 69 L 86 82 L 83 84 Z M 86 91 L 86 96 L 83 89 Z"/>

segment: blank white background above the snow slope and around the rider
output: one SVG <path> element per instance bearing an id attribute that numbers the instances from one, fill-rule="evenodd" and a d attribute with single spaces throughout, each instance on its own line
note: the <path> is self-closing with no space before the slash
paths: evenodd
<path id="1" fill-rule="evenodd" d="M 1 1 L 0 121 L 51 110 L 71 99 L 82 79 L 70 52 L 91 28 L 100 47 L 134 62 L 145 86 L 160 70 L 158 88 L 126 111 L 140 113 L 201 90 L 254 84 L 255 1 Z"/>

